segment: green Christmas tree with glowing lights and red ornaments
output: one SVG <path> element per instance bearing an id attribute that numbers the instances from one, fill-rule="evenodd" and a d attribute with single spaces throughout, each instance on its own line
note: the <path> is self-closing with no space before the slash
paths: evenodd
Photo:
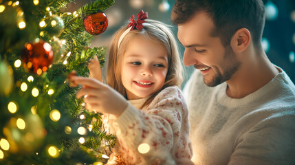
<path id="1" fill-rule="evenodd" d="M 89 48 L 107 28 L 98 0 L 74 13 L 74 0 L 0 0 L 0 164 L 104 164 L 116 137 L 75 97 L 67 76 L 88 76 L 106 47 Z"/>

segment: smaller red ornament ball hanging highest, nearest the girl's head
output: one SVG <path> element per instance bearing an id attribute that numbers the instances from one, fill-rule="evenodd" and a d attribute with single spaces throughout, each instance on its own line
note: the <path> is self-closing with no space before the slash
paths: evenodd
<path id="1" fill-rule="evenodd" d="M 107 29 L 107 15 L 104 12 L 98 12 L 96 14 L 91 14 L 83 20 L 83 25 L 86 30 L 91 35 L 98 35 L 105 32 Z"/>

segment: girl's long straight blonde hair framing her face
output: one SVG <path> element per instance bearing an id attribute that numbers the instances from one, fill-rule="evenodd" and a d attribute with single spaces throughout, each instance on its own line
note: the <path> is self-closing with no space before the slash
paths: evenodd
<path id="1" fill-rule="evenodd" d="M 118 41 L 122 33 L 128 29 L 127 25 L 120 28 L 114 35 L 111 41 L 111 46 L 109 48 L 109 59 L 107 64 L 107 84 L 113 89 L 116 89 L 122 96 L 127 98 L 126 90 L 122 84 L 121 66 L 122 58 L 127 50 L 128 43 L 134 37 L 144 36 L 147 39 L 155 43 L 159 43 L 164 46 L 168 55 L 168 72 L 166 75 L 165 83 L 162 89 L 171 86 L 180 87 L 182 84 L 182 64 L 179 58 L 179 52 L 177 48 L 177 43 L 173 36 L 173 33 L 168 28 L 168 25 L 161 23 L 159 21 L 146 19 L 144 23 L 144 28 L 142 30 L 131 30 L 124 36 L 124 39 L 120 43 L 118 48 Z M 162 89 L 160 91 L 162 91 Z M 157 91 L 153 96 L 151 96 L 142 107 L 151 103 L 153 98 L 157 96 L 160 92 Z M 127 98 L 128 99 L 128 98 Z"/>

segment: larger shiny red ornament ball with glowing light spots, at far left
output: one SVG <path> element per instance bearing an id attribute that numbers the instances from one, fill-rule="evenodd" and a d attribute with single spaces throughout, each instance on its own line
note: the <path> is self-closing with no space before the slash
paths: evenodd
<path id="1" fill-rule="evenodd" d="M 52 46 L 44 41 L 25 43 L 21 58 L 23 59 L 23 67 L 27 72 L 41 75 L 52 64 L 54 53 Z"/>

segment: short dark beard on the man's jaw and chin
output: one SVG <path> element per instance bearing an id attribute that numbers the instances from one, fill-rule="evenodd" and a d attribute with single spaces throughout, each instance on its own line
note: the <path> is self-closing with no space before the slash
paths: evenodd
<path id="1" fill-rule="evenodd" d="M 237 56 L 232 51 L 232 48 L 228 46 L 226 48 L 224 61 L 221 65 L 221 68 L 223 68 L 223 74 L 221 74 L 220 70 L 215 67 L 215 72 L 217 75 L 215 75 L 212 80 L 206 80 L 204 78 L 204 83 L 208 87 L 215 87 L 227 80 L 230 80 L 232 78 L 232 75 L 239 70 L 239 67 L 241 66 L 241 62 L 238 61 Z"/>

